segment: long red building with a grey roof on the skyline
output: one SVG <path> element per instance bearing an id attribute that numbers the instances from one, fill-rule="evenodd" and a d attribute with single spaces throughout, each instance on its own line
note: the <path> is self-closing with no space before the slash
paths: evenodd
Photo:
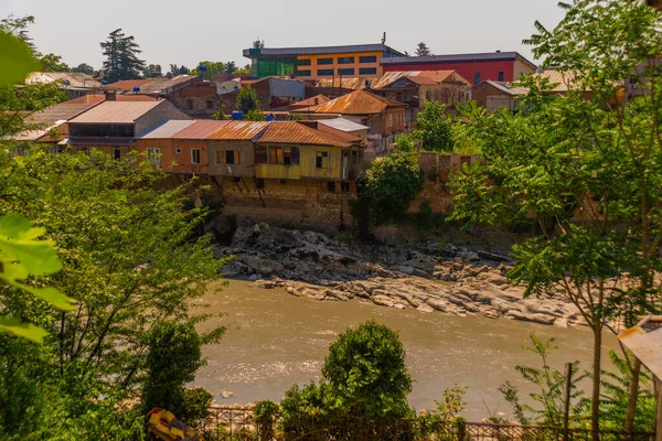
<path id="1" fill-rule="evenodd" d="M 514 82 L 522 74 L 535 72 L 536 65 L 516 52 L 487 54 L 453 54 L 430 56 L 401 56 L 382 58 L 384 72 L 395 71 L 456 71 L 471 84 L 484 80 Z"/>

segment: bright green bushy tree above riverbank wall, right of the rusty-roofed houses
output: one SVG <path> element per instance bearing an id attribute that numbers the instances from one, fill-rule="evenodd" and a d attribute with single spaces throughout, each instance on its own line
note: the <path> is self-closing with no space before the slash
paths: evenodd
<path id="1" fill-rule="evenodd" d="M 438 101 L 425 101 L 423 111 L 416 116 L 416 139 L 426 151 L 451 152 L 453 139 L 451 121 L 446 108 Z"/>

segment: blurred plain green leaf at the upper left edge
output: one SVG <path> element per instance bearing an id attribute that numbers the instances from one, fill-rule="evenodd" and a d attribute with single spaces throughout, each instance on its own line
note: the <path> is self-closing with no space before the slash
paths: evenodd
<path id="1" fill-rule="evenodd" d="M 39 64 L 28 44 L 0 31 L 0 86 L 22 83 L 29 73 L 38 71 Z"/>

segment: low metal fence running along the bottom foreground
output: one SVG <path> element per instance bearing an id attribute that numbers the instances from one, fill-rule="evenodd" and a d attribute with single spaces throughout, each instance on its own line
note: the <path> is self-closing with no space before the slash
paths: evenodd
<path id="1" fill-rule="evenodd" d="M 564 430 L 558 427 L 495 424 L 489 422 L 446 422 L 426 418 L 389 421 L 383 426 L 349 427 L 310 421 L 274 434 L 260 428 L 247 407 L 210 408 L 209 418 L 199 427 L 205 441 L 592 441 L 588 429 Z M 655 441 L 650 432 L 602 430 L 600 441 Z"/>

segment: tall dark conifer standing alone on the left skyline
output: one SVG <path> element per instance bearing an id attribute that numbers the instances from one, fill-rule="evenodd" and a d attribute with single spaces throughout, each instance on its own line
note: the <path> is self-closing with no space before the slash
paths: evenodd
<path id="1" fill-rule="evenodd" d="M 99 43 L 104 50 L 104 78 L 109 83 L 120 79 L 140 77 L 145 69 L 145 61 L 138 56 L 142 52 L 134 35 L 126 35 L 121 29 L 110 32 L 105 42 Z"/>

